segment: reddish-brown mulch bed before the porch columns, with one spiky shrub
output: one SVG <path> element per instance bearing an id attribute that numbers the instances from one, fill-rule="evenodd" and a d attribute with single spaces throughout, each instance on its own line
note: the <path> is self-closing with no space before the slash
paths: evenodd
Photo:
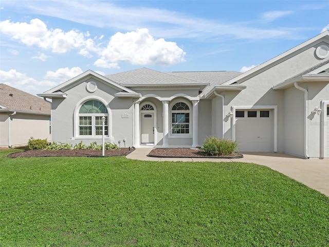
<path id="1" fill-rule="evenodd" d="M 148 154 L 149 157 L 180 157 L 180 158 L 242 158 L 240 153 L 230 155 L 211 156 L 197 148 L 155 148 Z"/>

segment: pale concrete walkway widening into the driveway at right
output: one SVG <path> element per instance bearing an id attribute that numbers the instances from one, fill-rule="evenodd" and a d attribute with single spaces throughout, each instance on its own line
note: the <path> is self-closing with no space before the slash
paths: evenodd
<path id="1" fill-rule="evenodd" d="M 329 159 L 308 160 L 282 153 L 243 153 L 243 158 L 156 158 L 147 155 L 153 148 L 137 148 L 127 158 L 141 161 L 249 162 L 267 166 L 329 197 Z"/>

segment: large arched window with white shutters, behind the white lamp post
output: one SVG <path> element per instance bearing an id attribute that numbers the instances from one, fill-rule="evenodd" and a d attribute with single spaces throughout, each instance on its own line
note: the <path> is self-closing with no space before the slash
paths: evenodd
<path id="1" fill-rule="evenodd" d="M 102 117 L 105 116 L 105 135 L 108 135 L 108 112 L 98 100 L 88 100 L 79 109 L 79 135 L 102 135 Z"/>

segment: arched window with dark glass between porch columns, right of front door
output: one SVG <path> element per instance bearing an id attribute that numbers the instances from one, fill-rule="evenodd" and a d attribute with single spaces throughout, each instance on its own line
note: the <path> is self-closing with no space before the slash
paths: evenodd
<path id="1" fill-rule="evenodd" d="M 190 134 L 190 108 L 184 102 L 178 102 L 171 108 L 171 133 Z"/>

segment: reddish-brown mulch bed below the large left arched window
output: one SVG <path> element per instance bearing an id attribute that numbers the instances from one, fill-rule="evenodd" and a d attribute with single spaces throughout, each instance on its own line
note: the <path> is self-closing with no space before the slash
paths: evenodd
<path id="1" fill-rule="evenodd" d="M 105 150 L 105 156 L 124 156 L 132 151 L 134 148 L 120 148 L 119 150 Z M 18 157 L 99 157 L 102 156 L 102 150 L 75 150 L 75 149 L 61 149 L 61 150 L 25 150 L 21 152 L 15 152 L 8 155 L 10 158 Z"/>

